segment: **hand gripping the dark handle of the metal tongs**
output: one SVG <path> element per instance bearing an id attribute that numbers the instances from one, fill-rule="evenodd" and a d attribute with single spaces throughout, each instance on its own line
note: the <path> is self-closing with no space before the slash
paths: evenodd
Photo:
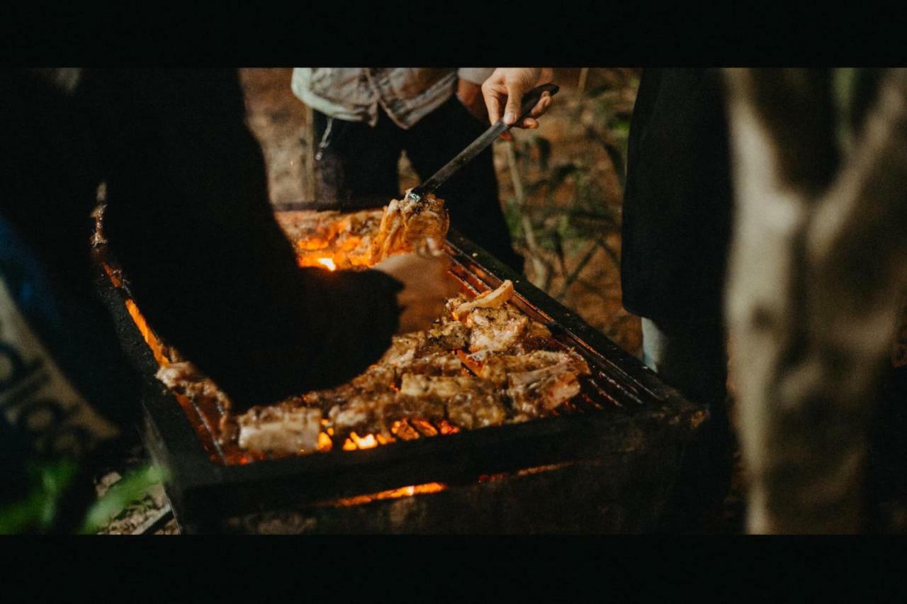
<path id="1" fill-rule="evenodd" d="M 502 119 L 517 128 L 538 128 L 535 119 L 551 107 L 551 94 L 541 93 L 530 117 L 515 123 L 520 117 L 522 95 L 541 83 L 551 82 L 553 71 L 549 67 L 498 67 L 482 84 L 482 94 L 488 110 L 488 119 L 495 123 Z M 506 132 L 505 132 L 506 134 Z M 502 135 L 503 136 L 503 135 Z M 509 136 L 503 137 L 509 138 Z"/>

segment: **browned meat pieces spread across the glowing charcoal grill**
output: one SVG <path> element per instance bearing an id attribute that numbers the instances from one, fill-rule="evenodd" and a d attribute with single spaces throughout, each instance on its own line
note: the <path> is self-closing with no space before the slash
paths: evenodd
<path id="1" fill-rule="evenodd" d="M 338 268 L 367 265 L 396 253 L 422 252 L 429 239 L 444 240 L 448 226 L 444 202 L 431 196 L 417 204 L 392 202 L 374 237 L 367 228 L 375 224 L 374 215 L 345 220 L 334 226 L 310 220 L 306 228 L 315 229 L 317 237 L 299 243 L 300 254 L 314 262 L 333 250 L 334 258 L 343 258 Z M 367 261 L 363 242 L 371 246 Z M 552 350 L 557 345 L 548 328 L 509 304 L 513 293 L 512 283 L 504 281 L 473 299 L 452 297 L 433 326 L 394 336 L 378 363 L 350 382 L 253 407 L 236 418 L 229 415 L 226 395 L 193 365 L 171 364 L 158 377 L 193 400 L 219 404 L 225 412 L 221 442 L 233 440 L 257 453 L 313 451 L 325 430 L 335 443 L 354 432 L 391 436 L 404 420 L 446 420 L 464 429 L 522 422 L 550 414 L 577 395 L 579 375 L 589 367 L 572 351 Z"/>

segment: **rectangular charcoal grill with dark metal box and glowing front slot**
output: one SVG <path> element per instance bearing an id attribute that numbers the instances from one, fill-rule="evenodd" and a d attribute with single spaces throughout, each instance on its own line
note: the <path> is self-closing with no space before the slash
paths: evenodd
<path id="1" fill-rule="evenodd" d="M 655 528 L 684 445 L 707 412 L 453 230 L 445 251 L 453 274 L 476 292 L 511 279 L 511 304 L 586 358 L 592 375 L 559 413 L 374 448 L 250 462 L 217 444 L 217 410 L 178 401 L 157 381 L 156 353 L 133 320 L 128 291 L 114 283 L 118 279 L 99 276 L 124 349 L 140 367 L 143 437 L 169 474 L 165 489 L 183 531 Z M 512 513 L 502 516 L 502 509 Z"/>

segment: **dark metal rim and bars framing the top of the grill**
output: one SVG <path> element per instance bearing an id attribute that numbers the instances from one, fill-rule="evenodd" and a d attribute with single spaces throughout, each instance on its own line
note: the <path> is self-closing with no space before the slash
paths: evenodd
<path id="1" fill-rule="evenodd" d="M 454 272 L 479 289 L 513 282 L 512 304 L 549 326 L 585 356 L 611 404 L 456 434 L 398 440 L 372 449 L 311 453 L 241 465 L 214 463 L 176 398 L 154 377 L 158 365 L 105 274 L 97 289 L 110 307 L 122 346 L 141 375 L 142 434 L 167 472 L 165 491 L 184 531 L 217 530 L 223 519 L 305 506 L 426 482 L 463 483 L 482 474 L 594 460 L 658 443 L 685 443 L 707 412 L 654 372 L 534 287 L 483 248 L 452 231 L 445 244 Z M 423 495 L 431 497 L 432 495 Z"/>

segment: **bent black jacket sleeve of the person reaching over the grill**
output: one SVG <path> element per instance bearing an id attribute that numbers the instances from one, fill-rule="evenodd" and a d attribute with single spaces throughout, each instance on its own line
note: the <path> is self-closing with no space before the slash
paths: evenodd
<path id="1" fill-rule="evenodd" d="M 136 303 L 237 409 L 339 384 L 384 352 L 402 286 L 297 267 L 235 70 L 89 72 L 80 93 Z"/>

